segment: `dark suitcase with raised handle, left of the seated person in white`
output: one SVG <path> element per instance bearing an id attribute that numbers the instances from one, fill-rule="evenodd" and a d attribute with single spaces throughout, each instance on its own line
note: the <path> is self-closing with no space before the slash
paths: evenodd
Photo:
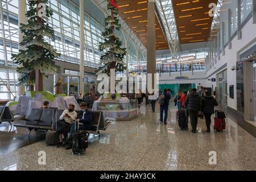
<path id="1" fill-rule="evenodd" d="M 46 133 L 46 144 L 55 146 L 56 144 L 60 143 L 60 134 L 57 131 L 57 116 L 56 116 L 56 127 L 53 127 L 53 120 L 54 120 L 54 110 L 52 111 L 52 130 L 48 130 Z"/>

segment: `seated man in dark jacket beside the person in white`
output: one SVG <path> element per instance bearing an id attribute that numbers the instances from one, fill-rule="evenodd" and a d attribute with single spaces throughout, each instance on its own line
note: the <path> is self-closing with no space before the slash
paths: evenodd
<path id="1" fill-rule="evenodd" d="M 73 122 L 71 130 L 70 130 L 70 135 L 69 139 L 71 140 L 73 133 L 75 133 L 75 125 L 76 129 L 78 128 L 77 123 L 80 123 L 79 125 L 79 130 L 93 130 L 93 114 L 91 111 L 87 110 L 87 105 L 82 103 L 80 104 L 81 112 L 79 113 L 76 122 Z M 69 142 L 68 145 L 66 146 L 66 149 L 69 150 L 72 148 L 72 143 Z"/>

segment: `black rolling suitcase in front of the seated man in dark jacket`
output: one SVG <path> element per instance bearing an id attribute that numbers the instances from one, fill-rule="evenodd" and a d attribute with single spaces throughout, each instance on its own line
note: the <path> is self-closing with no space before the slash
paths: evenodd
<path id="1" fill-rule="evenodd" d="M 88 148 L 88 132 L 79 130 L 78 124 L 78 131 L 76 131 L 75 125 L 75 133 L 72 135 L 72 151 L 73 155 L 79 154 L 81 155 L 85 152 L 86 148 Z"/>

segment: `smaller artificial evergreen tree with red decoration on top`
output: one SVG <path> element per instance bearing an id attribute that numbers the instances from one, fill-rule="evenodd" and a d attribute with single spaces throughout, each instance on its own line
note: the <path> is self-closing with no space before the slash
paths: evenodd
<path id="1" fill-rule="evenodd" d="M 104 43 L 100 43 L 99 50 L 105 51 L 105 54 L 101 56 L 101 63 L 104 67 L 96 73 L 107 73 L 110 75 L 110 69 L 115 69 L 115 71 L 122 72 L 126 69 L 123 64 L 123 58 L 126 55 L 126 48 L 121 48 L 122 42 L 119 37 L 115 34 L 114 30 L 120 31 L 121 24 L 119 24 L 118 7 L 115 5 L 117 1 L 112 0 L 108 3 L 108 10 L 111 11 L 111 16 L 105 19 L 105 31 L 102 32 L 104 38 Z"/>

